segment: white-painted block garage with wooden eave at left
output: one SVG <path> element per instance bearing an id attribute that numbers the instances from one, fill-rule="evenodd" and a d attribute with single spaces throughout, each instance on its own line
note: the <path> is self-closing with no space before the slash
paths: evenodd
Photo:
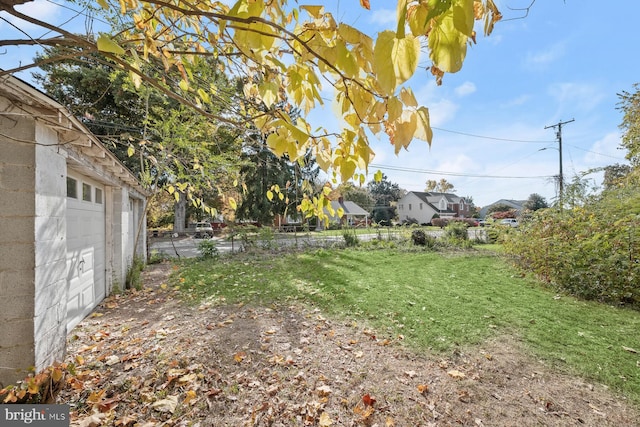
<path id="1" fill-rule="evenodd" d="M 61 104 L 0 77 L 0 387 L 66 335 L 145 256 L 146 193 Z"/>

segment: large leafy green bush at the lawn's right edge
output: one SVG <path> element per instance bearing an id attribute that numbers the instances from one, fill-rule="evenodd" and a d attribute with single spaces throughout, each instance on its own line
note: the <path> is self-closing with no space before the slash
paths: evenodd
<path id="1" fill-rule="evenodd" d="M 505 248 L 525 270 L 585 299 L 640 307 L 640 209 L 589 206 L 537 211 Z"/>

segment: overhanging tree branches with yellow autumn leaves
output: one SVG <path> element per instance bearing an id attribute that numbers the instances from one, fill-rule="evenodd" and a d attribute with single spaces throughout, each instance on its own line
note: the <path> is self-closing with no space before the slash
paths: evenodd
<path id="1" fill-rule="evenodd" d="M 396 153 L 414 138 L 431 143 L 429 111 L 404 86 L 416 72 L 422 50 L 441 82 L 444 73 L 462 67 L 467 45 L 476 39 L 474 21 L 483 21 L 489 34 L 501 18 L 493 0 L 400 0 L 395 30 L 372 38 L 337 22 L 322 6 L 287 0 L 239 0 L 232 6 L 221 1 L 98 0 L 118 24 L 110 33 L 87 37 L 15 9 L 25 2 L 3 0 L 0 10 L 54 35 L 0 45 L 59 46 L 68 48 L 70 56 L 99 51 L 109 64 L 128 72 L 134 84 L 163 91 L 218 124 L 243 127 L 250 121 L 268 135 L 267 145 L 276 155 L 297 161 L 311 150 L 323 170 L 361 183 L 374 155 L 370 133 L 385 133 Z M 368 0 L 360 4 L 369 7 Z M 212 56 L 225 73 L 251 82 L 245 85 L 245 102 L 224 112 L 216 106 L 215 83 L 193 74 L 203 58 Z M 157 74 L 145 68 L 152 62 L 163 66 Z M 27 67 L 5 66 L 0 75 Z M 180 78 L 159 77 L 160 71 L 171 70 Z M 308 113 L 322 104 L 321 82 L 333 88 L 344 123 L 341 132 L 314 127 L 302 118 L 294 122 L 286 109 L 272 108 L 287 102 Z M 302 210 L 324 216 L 325 196 L 303 200 Z"/>

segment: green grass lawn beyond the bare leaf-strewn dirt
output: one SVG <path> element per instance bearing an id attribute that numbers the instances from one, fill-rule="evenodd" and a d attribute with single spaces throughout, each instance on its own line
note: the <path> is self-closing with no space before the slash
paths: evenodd
<path id="1" fill-rule="evenodd" d="M 516 336 L 535 357 L 640 404 L 640 312 L 558 296 L 490 250 L 316 250 L 190 261 L 176 279 L 194 302 L 302 301 L 437 354 Z"/>

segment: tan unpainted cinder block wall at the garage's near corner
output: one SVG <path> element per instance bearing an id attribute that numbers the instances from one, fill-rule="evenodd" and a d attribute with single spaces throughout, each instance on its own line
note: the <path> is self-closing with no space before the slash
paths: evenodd
<path id="1" fill-rule="evenodd" d="M 36 147 L 32 118 L 0 116 L 0 129 L 0 385 L 6 385 L 35 364 Z"/>

